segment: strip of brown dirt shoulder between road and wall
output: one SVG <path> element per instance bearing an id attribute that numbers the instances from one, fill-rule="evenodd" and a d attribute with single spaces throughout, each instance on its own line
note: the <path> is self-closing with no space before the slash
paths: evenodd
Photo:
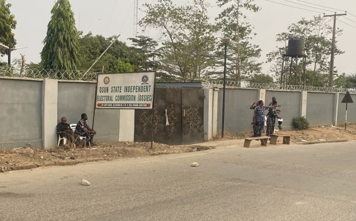
<path id="1" fill-rule="evenodd" d="M 321 126 L 303 131 L 280 130 L 277 131 L 276 134 L 291 135 L 291 143 L 295 144 L 325 140 L 350 140 L 356 138 L 356 124 L 348 125 L 347 130 L 343 127 Z M 227 140 L 242 139 L 244 137 L 251 137 L 251 134 L 226 135 L 224 138 L 215 138 L 213 141 L 195 145 L 169 146 L 154 143 L 153 149 L 150 148 L 149 142 L 101 142 L 96 146 L 97 149 L 91 150 L 66 147 L 50 150 L 24 147 L 13 150 L 0 150 L 0 172 L 31 169 L 39 166 L 75 165 L 91 161 L 110 161 L 124 158 L 201 151 L 223 146 L 224 141 Z"/>

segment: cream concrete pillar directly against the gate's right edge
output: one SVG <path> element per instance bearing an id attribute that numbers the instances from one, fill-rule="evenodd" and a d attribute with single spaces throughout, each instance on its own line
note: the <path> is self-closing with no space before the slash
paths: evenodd
<path id="1" fill-rule="evenodd" d="M 204 89 L 204 141 L 213 138 L 213 89 Z"/>

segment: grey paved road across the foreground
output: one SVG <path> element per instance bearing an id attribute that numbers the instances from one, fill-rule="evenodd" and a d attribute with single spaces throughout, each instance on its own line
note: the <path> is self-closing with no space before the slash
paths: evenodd
<path id="1" fill-rule="evenodd" d="M 2 173 L 0 220 L 356 220 L 356 141 Z"/>

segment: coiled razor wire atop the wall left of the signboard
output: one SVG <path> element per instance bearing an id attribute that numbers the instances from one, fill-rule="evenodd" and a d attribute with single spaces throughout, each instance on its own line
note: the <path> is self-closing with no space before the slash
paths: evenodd
<path id="1" fill-rule="evenodd" d="M 0 67 L 1 77 L 19 77 L 19 78 L 50 78 L 58 80 L 83 80 L 83 81 L 95 81 L 95 72 L 88 72 L 84 75 L 85 71 L 65 71 L 55 69 L 36 69 L 36 68 L 24 68 L 19 70 L 13 67 L 2 66 Z"/>

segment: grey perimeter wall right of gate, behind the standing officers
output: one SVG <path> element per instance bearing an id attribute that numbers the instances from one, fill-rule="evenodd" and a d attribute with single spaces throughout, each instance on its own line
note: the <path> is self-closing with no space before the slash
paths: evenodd
<path id="1" fill-rule="evenodd" d="M 222 93 L 220 88 L 217 133 L 213 133 L 213 136 L 221 134 Z M 272 97 L 276 97 L 278 104 L 282 105 L 278 109 L 281 110 L 283 129 L 293 129 L 293 118 L 298 116 L 306 117 L 310 126 L 342 125 L 345 124 L 346 104 L 341 103 L 344 96 L 344 93 L 228 88 L 225 94 L 224 132 L 227 134 L 252 132 L 253 111 L 249 110 L 249 107 L 259 99 L 264 100 L 267 106 Z M 356 95 L 351 96 L 356 102 Z M 356 104 L 348 105 L 348 123 L 356 123 Z"/>

